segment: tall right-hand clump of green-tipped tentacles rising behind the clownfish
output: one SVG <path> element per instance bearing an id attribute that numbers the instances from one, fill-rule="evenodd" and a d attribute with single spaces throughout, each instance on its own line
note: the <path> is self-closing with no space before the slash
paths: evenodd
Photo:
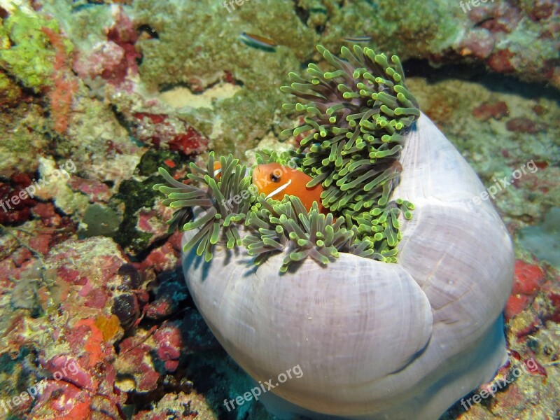
<path id="1" fill-rule="evenodd" d="M 317 50 L 335 71 L 309 64 L 303 77 L 289 74 L 293 83 L 281 90 L 300 102 L 283 109 L 303 113 L 304 123 L 282 133 L 307 133 L 297 149 L 304 172 L 314 178 L 307 186 L 321 183 L 323 206 L 343 216 L 348 228 L 358 227 L 359 249 L 395 262 L 398 218 L 410 218 L 414 206 L 389 197 L 402 172 L 405 136 L 420 116 L 418 103 L 396 55 L 389 63 L 386 55 L 358 45 L 353 53 L 342 47 L 342 59 L 321 45 Z"/>

